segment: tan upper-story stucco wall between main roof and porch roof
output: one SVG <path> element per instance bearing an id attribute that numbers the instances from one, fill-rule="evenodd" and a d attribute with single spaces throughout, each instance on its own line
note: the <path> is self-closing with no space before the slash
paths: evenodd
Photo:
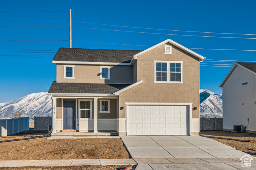
<path id="1" fill-rule="evenodd" d="M 65 83 L 133 83 L 132 66 L 110 66 L 110 80 L 100 79 L 100 65 L 75 65 L 74 79 L 64 79 L 64 65 L 57 64 L 57 82 Z"/>

